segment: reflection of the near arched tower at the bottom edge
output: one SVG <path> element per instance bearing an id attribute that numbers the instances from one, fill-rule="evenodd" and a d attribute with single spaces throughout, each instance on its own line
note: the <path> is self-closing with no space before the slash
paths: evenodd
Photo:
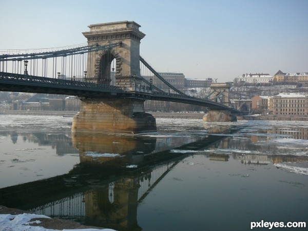
<path id="1" fill-rule="evenodd" d="M 117 230 L 141 230 L 137 224 L 140 179 L 123 178 L 109 187 L 89 190 L 84 195 L 85 216 L 97 226 L 111 226 Z"/>

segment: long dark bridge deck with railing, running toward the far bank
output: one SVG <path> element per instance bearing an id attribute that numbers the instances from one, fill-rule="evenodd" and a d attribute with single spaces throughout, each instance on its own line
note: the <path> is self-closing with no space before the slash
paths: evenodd
<path id="1" fill-rule="evenodd" d="M 94 84 L 73 80 L 46 78 L 41 76 L 0 72 L 0 91 L 31 92 L 46 94 L 76 95 L 80 98 L 114 98 L 157 100 L 204 106 L 213 110 L 231 110 L 234 108 L 189 95 L 145 90 L 125 91 L 121 87 Z"/>

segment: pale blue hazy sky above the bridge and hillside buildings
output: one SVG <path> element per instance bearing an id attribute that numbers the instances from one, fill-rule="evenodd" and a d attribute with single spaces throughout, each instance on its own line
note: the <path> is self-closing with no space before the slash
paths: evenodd
<path id="1" fill-rule="evenodd" d="M 0 0 L 0 50 L 85 44 L 88 25 L 134 21 L 158 72 L 232 81 L 308 72 L 308 0 Z"/>

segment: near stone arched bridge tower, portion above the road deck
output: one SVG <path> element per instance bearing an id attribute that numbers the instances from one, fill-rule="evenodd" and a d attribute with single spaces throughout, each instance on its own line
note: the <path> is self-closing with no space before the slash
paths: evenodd
<path id="1" fill-rule="evenodd" d="M 145 36 L 140 25 L 132 21 L 93 24 L 89 32 L 83 32 L 88 45 L 108 45 L 122 42 L 122 46 L 92 52 L 87 61 L 87 80 L 93 83 L 110 84 L 112 60 L 116 60 L 115 81 L 120 87 L 129 88 L 132 83 L 141 84 L 140 41 Z M 114 68 L 114 67 L 112 67 Z"/>

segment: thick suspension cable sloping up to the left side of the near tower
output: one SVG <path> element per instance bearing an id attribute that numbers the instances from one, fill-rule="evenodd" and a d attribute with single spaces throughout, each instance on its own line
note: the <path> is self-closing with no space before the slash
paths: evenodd
<path id="1" fill-rule="evenodd" d="M 60 51 L 49 51 L 49 52 L 42 52 L 42 53 L 29 53 L 29 54 L 2 54 L 0 55 L 0 62 L 1 61 L 22 61 L 22 60 L 36 60 L 36 59 L 48 59 L 50 57 L 61 57 L 61 56 L 68 56 L 68 55 L 75 55 L 75 54 L 83 54 L 89 53 L 93 51 L 105 50 L 110 49 L 116 46 L 121 46 L 122 42 L 112 43 L 108 45 L 92 45 L 92 46 L 84 46 Z"/>

